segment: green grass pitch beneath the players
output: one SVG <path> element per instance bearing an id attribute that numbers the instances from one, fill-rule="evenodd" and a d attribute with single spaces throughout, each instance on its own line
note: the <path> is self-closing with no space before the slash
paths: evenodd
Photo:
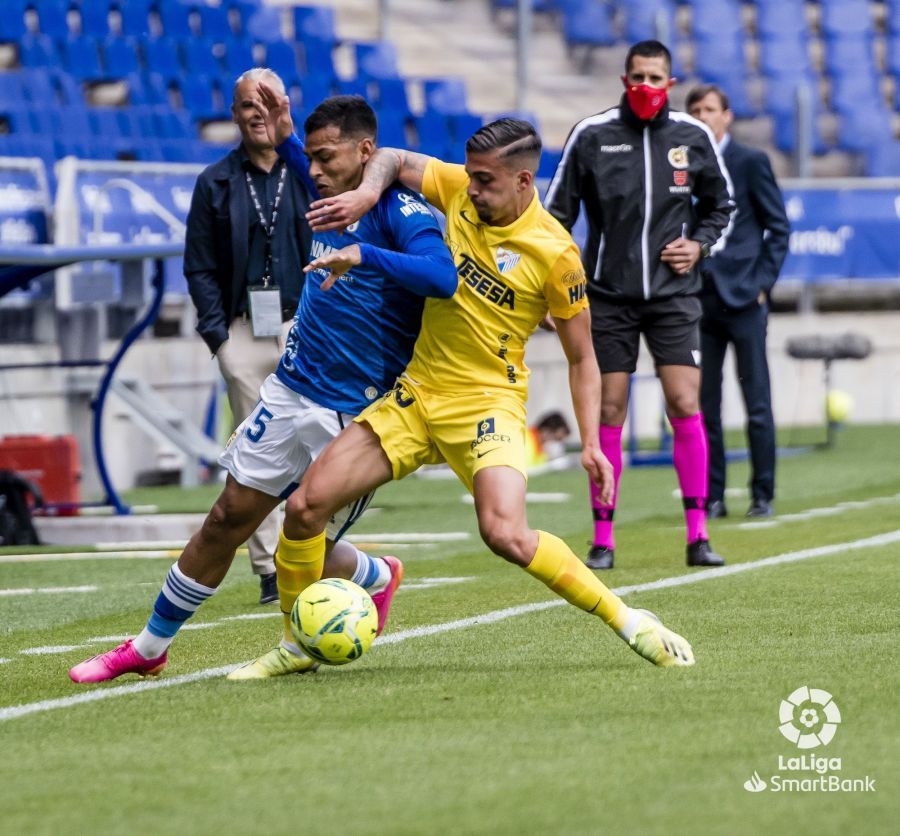
<path id="1" fill-rule="evenodd" d="M 628 595 L 691 640 L 690 669 L 653 668 L 567 606 L 417 635 L 554 600 L 481 546 L 455 482 L 410 478 L 379 492 L 380 510 L 358 534 L 470 537 L 397 551 L 406 580 L 385 632 L 394 640 L 302 677 L 73 685 L 69 666 L 143 626 L 170 561 L 12 562 L 0 550 L 0 832 L 894 833 L 898 449 L 898 427 L 847 429 L 831 450 L 779 462 L 775 524 L 746 524 L 747 500 L 730 497 L 732 516 L 710 526 L 730 565 L 869 545 Z M 730 485 L 746 474 L 733 465 Z M 671 468 L 625 472 L 617 568 L 604 582 L 691 571 L 675 487 Z M 530 490 L 569 494 L 529 505 L 529 518 L 583 554 L 584 477 L 537 477 Z M 155 498 L 199 510 L 212 495 Z M 10 592 L 79 586 L 96 590 Z M 158 681 L 273 645 L 280 620 L 257 595 L 239 556 Z M 236 618 L 244 615 L 257 617 Z M 110 638 L 89 643 L 101 637 Z M 109 698 L 67 701 L 123 685 Z M 834 740 L 807 757 L 839 758 L 834 774 L 870 776 L 875 792 L 772 791 L 772 776 L 788 775 L 779 757 L 804 754 L 778 730 L 781 700 L 802 685 L 829 691 L 841 711 Z M 25 716 L 4 715 L 36 703 Z M 765 791 L 744 788 L 754 772 L 770 783 Z"/>

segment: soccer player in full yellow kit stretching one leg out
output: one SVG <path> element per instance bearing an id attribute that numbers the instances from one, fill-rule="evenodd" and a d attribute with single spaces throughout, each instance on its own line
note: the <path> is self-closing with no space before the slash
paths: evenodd
<path id="1" fill-rule="evenodd" d="M 584 269 L 578 247 L 538 199 L 540 152 L 532 125 L 501 119 L 469 138 L 465 166 L 381 149 L 358 190 L 313 204 L 313 229 L 346 226 L 400 180 L 447 216 L 446 242 L 459 286 L 450 299 L 426 301 L 412 360 L 397 386 L 329 444 L 289 497 L 293 526 L 288 531 L 286 524 L 278 547 L 282 601 L 296 598 L 323 572 L 349 577 L 339 562 L 325 565 L 325 526 L 335 509 L 423 464 L 445 461 L 474 495 L 479 531 L 491 551 L 600 616 L 654 664 L 691 665 L 684 638 L 652 613 L 628 607 L 558 537 L 528 526 L 525 342 L 548 311 L 569 363 L 582 465 L 601 492 L 611 494 L 613 487 L 595 431 L 600 371 Z M 340 276 L 352 266 L 352 254 L 342 250 L 307 270 Z M 286 630 L 281 645 L 230 676 L 309 670 L 309 659 L 297 651 Z"/>

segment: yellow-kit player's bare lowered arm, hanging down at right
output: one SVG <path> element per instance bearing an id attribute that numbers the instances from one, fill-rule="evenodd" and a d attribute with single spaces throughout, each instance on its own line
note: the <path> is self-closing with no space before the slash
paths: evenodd
<path id="1" fill-rule="evenodd" d="M 600 449 L 600 368 L 591 340 L 591 315 L 583 310 L 571 319 L 553 318 L 569 362 L 569 389 L 581 435 L 581 465 L 600 488 L 600 501 L 611 503 L 615 479 L 612 465 Z"/>

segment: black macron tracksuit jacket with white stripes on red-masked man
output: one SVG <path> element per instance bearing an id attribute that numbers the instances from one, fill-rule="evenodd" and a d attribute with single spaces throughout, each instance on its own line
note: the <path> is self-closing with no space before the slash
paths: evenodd
<path id="1" fill-rule="evenodd" d="M 569 230 L 582 202 L 588 294 L 621 302 L 699 293 L 698 268 L 680 276 L 660 253 L 682 235 L 715 252 L 734 210 L 711 131 L 668 107 L 639 119 L 624 96 L 572 129 L 544 199 Z"/>

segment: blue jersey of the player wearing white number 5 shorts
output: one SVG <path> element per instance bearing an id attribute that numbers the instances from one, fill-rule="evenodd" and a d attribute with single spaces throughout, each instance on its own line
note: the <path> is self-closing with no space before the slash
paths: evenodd
<path id="1" fill-rule="evenodd" d="M 305 157 L 302 162 L 296 158 L 297 147 L 302 151 L 295 140 L 293 148 L 278 149 L 295 171 L 305 166 Z M 398 185 L 387 189 L 378 204 L 342 234 L 314 233 L 309 261 L 351 244 L 428 255 L 439 247 L 452 269 L 434 216 L 418 195 Z M 319 286 L 326 271 L 307 275 L 276 372 L 282 383 L 304 397 L 354 415 L 390 389 L 406 367 L 425 302 L 422 293 L 386 276 L 373 264 L 377 260 L 383 259 L 364 258 L 325 291 Z"/>

